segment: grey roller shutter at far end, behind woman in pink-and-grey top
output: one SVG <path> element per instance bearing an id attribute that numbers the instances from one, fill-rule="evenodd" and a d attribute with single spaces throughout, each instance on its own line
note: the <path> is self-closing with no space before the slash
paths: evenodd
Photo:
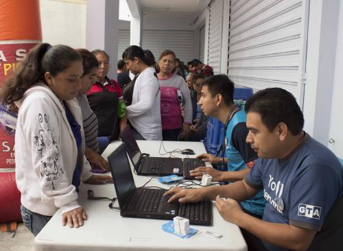
<path id="1" fill-rule="evenodd" d="M 193 30 L 143 30 L 143 49 L 150 49 L 158 60 L 162 51 L 170 49 L 176 58 L 187 62 L 195 57 Z"/>

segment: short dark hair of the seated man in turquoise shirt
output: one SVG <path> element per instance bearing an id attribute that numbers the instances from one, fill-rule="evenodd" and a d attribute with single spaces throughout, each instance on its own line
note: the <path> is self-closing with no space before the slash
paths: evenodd
<path id="1" fill-rule="evenodd" d="M 221 74 L 207 77 L 204 82 L 202 82 L 202 86 L 207 86 L 207 88 L 209 88 L 209 93 L 211 93 L 212 97 L 220 94 L 223 96 L 226 105 L 233 104 L 235 84 L 227 75 Z"/>

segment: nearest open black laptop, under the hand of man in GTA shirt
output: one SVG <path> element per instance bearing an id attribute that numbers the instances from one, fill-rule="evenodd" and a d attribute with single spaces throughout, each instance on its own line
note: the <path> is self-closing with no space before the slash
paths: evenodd
<path id="1" fill-rule="evenodd" d="M 110 171 L 115 182 L 115 191 L 122 217 L 150 219 L 173 219 L 181 216 L 190 224 L 211 226 L 212 202 L 204 199 L 198 203 L 168 203 L 165 189 L 136 187 L 126 155 L 126 147 L 121 144 L 108 156 Z"/>

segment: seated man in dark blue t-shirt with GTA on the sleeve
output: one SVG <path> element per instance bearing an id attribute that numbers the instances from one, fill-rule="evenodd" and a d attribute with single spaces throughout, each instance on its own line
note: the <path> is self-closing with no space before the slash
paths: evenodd
<path id="1" fill-rule="evenodd" d="M 266 250 L 342 247 L 343 168 L 338 158 L 303 131 L 303 113 L 291 93 L 259 91 L 245 110 L 246 141 L 260 157 L 246 178 L 222 187 L 171 189 L 166 194 L 175 194 L 169 200 L 215 198 L 220 215 L 259 237 Z M 236 201 L 262 188 L 267 205 L 263 219 L 257 219 Z"/>

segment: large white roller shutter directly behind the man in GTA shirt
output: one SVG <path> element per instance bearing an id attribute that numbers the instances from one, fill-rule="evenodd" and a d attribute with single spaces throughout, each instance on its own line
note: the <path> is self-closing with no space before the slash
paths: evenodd
<path id="1" fill-rule="evenodd" d="M 231 0 L 230 79 L 255 91 L 285 88 L 302 104 L 307 13 L 305 1 Z"/>

